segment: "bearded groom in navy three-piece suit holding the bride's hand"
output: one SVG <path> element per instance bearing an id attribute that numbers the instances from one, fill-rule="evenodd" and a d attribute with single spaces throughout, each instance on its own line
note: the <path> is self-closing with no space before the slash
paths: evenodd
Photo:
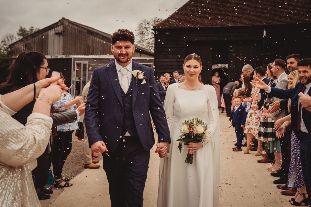
<path id="1" fill-rule="evenodd" d="M 132 61 L 134 50 L 131 31 L 118 29 L 111 35 L 115 61 L 94 70 L 85 110 L 89 145 L 103 154 L 111 206 L 118 207 L 143 205 L 150 149 L 155 143 L 149 112 L 159 135 L 156 153 L 160 158 L 170 143 L 153 70 Z"/>

